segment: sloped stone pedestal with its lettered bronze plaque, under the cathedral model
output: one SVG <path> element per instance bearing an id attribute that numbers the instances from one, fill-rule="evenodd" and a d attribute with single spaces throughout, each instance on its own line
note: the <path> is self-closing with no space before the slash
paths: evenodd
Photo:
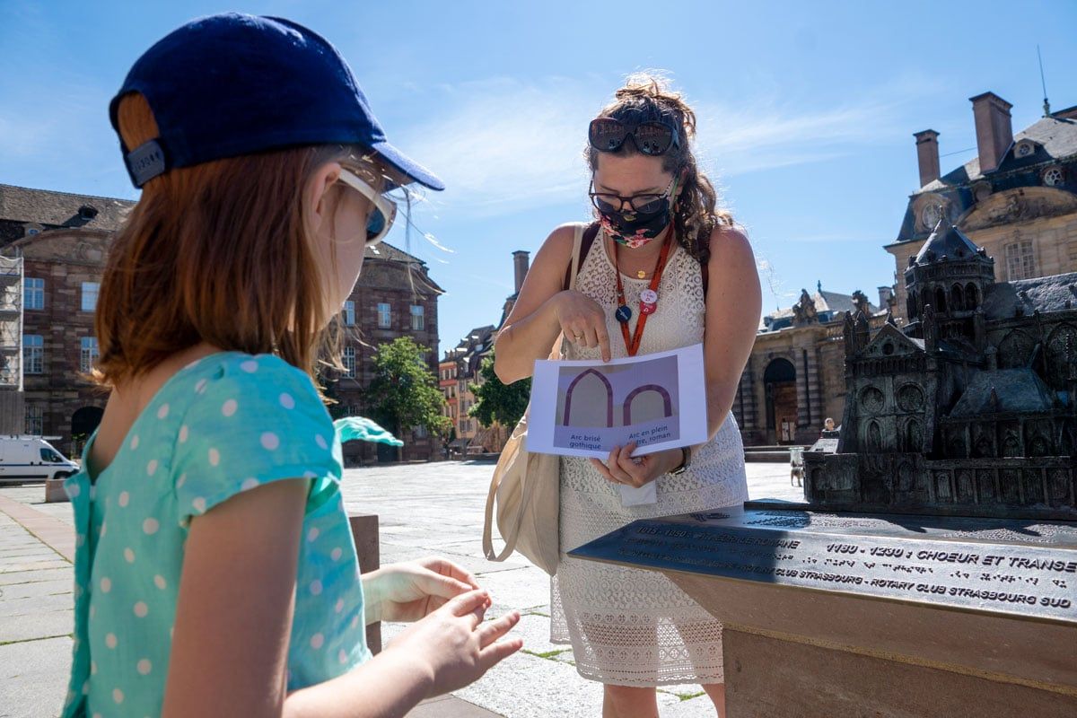
<path id="1" fill-rule="evenodd" d="M 730 718 L 1077 716 L 1077 524 L 722 509 L 571 553 L 724 622 Z"/>

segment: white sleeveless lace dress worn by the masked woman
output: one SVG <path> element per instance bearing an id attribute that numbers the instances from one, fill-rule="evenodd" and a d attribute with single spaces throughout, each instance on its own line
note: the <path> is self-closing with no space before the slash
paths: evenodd
<path id="1" fill-rule="evenodd" d="M 617 281 L 600 234 L 576 288 L 605 309 L 614 357 L 627 356 L 614 318 Z M 640 293 L 649 280 L 623 277 L 635 329 Z M 712 287 L 713 291 L 713 287 Z M 703 340 L 703 285 L 699 263 L 680 245 L 658 287 L 658 309 L 647 320 L 639 354 Z M 568 358 L 599 358 L 598 349 L 568 346 Z M 624 507 L 615 484 L 586 459 L 561 457 L 561 549 L 568 551 L 631 521 L 723 506 L 747 498 L 744 448 L 732 414 L 697 450 L 680 476 L 657 479 L 658 503 Z M 662 574 L 572 559 L 563 553 L 551 581 L 550 639 L 572 644 L 582 676 L 619 686 L 723 681 L 722 624 Z"/>

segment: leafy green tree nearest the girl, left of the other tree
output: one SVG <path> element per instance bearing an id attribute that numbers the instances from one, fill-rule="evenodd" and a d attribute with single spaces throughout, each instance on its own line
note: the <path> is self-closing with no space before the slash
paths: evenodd
<path id="1" fill-rule="evenodd" d="M 445 396 L 423 360 L 425 352 L 411 337 L 400 337 L 378 346 L 374 355 L 366 403 L 376 414 L 374 419 L 391 426 L 397 438 L 405 427 L 425 426 L 440 436 L 452 428 L 452 421 L 442 413 Z"/>

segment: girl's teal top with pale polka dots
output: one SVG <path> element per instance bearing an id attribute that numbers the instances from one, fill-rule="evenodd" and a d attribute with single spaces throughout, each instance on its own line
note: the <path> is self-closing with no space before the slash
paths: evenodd
<path id="1" fill-rule="evenodd" d="M 310 378 L 277 356 L 213 354 L 169 379 L 96 482 L 83 470 L 65 483 L 78 533 L 74 660 L 64 716 L 160 713 L 191 520 L 281 479 L 311 480 L 288 689 L 367 660 L 340 456 Z"/>

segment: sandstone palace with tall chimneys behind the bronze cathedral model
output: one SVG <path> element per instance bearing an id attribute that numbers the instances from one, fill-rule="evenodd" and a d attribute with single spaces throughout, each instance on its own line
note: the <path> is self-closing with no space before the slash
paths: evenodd
<path id="1" fill-rule="evenodd" d="M 941 174 L 939 133 L 914 135 L 920 187 L 909 197 L 896 241 L 885 247 L 894 256 L 897 281 L 893 290 L 879 287 L 878 311 L 862 300 L 855 309 L 840 306 L 838 313 L 824 314 L 819 299 L 803 293 L 799 311 L 765 320 L 733 403 L 746 445 L 789 442 L 791 435 L 794 442 L 811 444 L 823 419 L 840 423 L 845 404 L 841 312 L 862 311 L 868 328 L 877 329 L 887 309 L 900 327 L 919 321 L 927 304 L 940 312 L 965 311 L 982 301 L 975 282 L 960 287 L 932 282 L 932 296 L 924 290 L 910 295 L 906 270 L 940 221 L 956 225 L 994 257 L 995 282 L 1077 270 L 1077 107 L 1045 108 L 1043 117 L 1015 135 L 1008 102 L 984 93 L 971 103 L 977 156 L 963 166 Z"/>

